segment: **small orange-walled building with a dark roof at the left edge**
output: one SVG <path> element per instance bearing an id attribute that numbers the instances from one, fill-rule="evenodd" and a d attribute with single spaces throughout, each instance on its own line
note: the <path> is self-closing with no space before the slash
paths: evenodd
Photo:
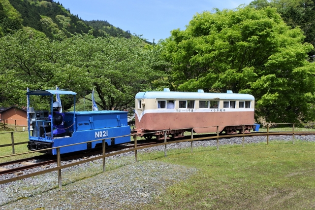
<path id="1" fill-rule="evenodd" d="M 1 119 L 5 121 L 6 124 L 27 126 L 27 112 L 19 108 L 12 107 L 1 113 Z"/>

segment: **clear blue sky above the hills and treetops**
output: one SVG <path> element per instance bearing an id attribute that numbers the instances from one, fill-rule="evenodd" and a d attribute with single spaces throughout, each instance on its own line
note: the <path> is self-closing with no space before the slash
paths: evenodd
<path id="1" fill-rule="evenodd" d="M 234 9 L 252 0 L 55 0 L 83 20 L 106 20 L 131 34 L 158 42 L 185 30 L 196 13 Z"/>

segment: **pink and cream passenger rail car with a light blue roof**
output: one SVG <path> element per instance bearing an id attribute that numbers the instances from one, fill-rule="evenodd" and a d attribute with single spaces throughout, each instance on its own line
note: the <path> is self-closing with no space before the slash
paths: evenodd
<path id="1" fill-rule="evenodd" d="M 195 133 L 250 133 L 254 127 L 254 97 L 249 94 L 172 92 L 139 92 L 135 96 L 134 133 L 151 139 L 163 139 L 162 130 L 172 138 L 180 138 L 185 131 Z M 146 134 L 152 133 L 153 134 Z M 144 133 L 144 134 L 143 134 Z"/>

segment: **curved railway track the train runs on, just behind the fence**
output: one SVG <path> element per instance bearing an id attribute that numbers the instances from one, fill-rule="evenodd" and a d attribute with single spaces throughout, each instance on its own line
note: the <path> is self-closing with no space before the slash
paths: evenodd
<path id="1" fill-rule="evenodd" d="M 252 133 L 253 135 L 248 134 L 247 136 L 267 136 L 267 133 L 265 132 L 255 132 Z M 294 132 L 294 135 L 314 135 L 314 132 Z M 292 135 L 292 132 L 269 132 L 269 136 L 280 136 L 280 135 Z M 194 135 L 194 139 L 196 138 L 207 138 L 207 137 L 216 137 L 217 134 L 201 134 L 201 135 Z M 233 138 L 233 135 L 220 135 L 219 138 Z M 190 136 L 185 136 L 183 139 L 190 139 Z M 204 139 L 206 140 L 206 139 Z M 213 139 L 215 140 L 215 139 Z M 137 141 L 137 147 L 141 149 L 141 146 L 146 146 L 146 145 L 152 145 L 152 144 L 157 144 L 160 143 L 156 141 L 156 139 L 152 139 L 151 141 L 147 142 L 148 140 L 138 140 Z M 172 140 L 167 140 L 168 142 Z M 130 143 L 128 143 L 130 144 Z M 126 145 L 118 145 L 115 148 L 112 149 L 106 149 L 106 153 L 110 152 L 115 152 L 115 151 L 120 151 L 123 149 L 128 149 L 134 147 L 134 144 Z M 77 158 L 84 158 L 84 157 L 89 157 L 93 155 L 99 155 L 102 154 L 101 150 L 93 150 L 87 153 L 76 153 L 76 154 L 71 154 L 71 155 L 64 155 L 61 157 L 61 161 L 69 161 L 69 160 L 74 160 Z M 38 159 L 41 159 L 43 161 L 37 162 Z M 51 156 L 51 155 L 40 155 L 36 157 L 30 157 L 30 158 L 25 158 L 25 159 L 19 159 L 19 160 L 14 160 L 14 161 L 9 161 L 9 162 L 4 162 L 0 163 L 0 175 L 6 175 L 6 174 L 12 174 L 12 173 L 18 173 L 22 172 L 24 170 L 29 170 L 32 168 L 38 168 L 38 167 L 43 167 L 43 168 L 49 168 L 50 164 L 57 163 L 56 156 Z M 18 166 L 17 166 L 18 165 Z M 23 173 L 22 173 L 23 174 Z M 19 174 L 17 174 L 19 175 Z"/>

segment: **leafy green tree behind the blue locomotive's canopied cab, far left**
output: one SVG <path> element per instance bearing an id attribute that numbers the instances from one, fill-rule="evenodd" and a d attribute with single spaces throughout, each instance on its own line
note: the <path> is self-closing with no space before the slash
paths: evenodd
<path id="1" fill-rule="evenodd" d="M 3 106 L 26 106 L 26 90 L 55 89 L 56 85 L 67 85 L 81 81 L 73 79 L 76 68 L 63 60 L 67 52 L 64 41 L 50 41 L 42 33 L 23 29 L 13 35 L 0 38 L 0 104 Z M 67 79 L 60 80 L 59 73 L 68 73 Z M 65 84 L 65 85 L 64 85 Z M 37 109 L 49 108 L 49 99 L 34 99 Z M 72 104 L 67 104 L 66 108 Z"/>

